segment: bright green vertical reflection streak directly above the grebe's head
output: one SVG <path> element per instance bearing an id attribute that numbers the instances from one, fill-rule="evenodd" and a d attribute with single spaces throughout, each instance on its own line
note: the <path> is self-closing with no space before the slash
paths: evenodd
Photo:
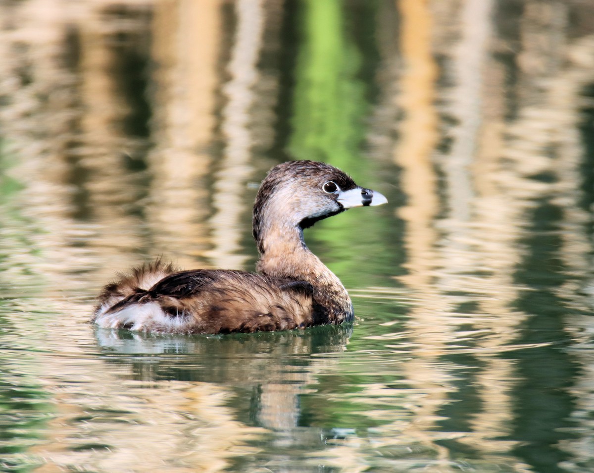
<path id="1" fill-rule="evenodd" d="M 357 77 L 361 52 L 345 37 L 344 15 L 339 0 L 302 2 L 303 37 L 295 70 L 289 149 L 298 159 L 349 169 L 355 163 L 361 165 L 356 156 L 368 104 L 364 84 Z"/>

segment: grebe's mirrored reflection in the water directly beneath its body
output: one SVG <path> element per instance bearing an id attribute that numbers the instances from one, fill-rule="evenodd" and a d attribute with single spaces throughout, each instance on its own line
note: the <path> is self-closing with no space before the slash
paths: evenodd
<path id="1" fill-rule="evenodd" d="M 331 354 L 346 350 L 352 332 L 346 323 L 231 335 L 95 333 L 105 361 L 124 368 L 123 379 L 218 384 L 235 395 L 234 406 L 249 412 L 250 424 L 277 430 L 298 425 L 298 396 L 322 368 L 339 361 Z"/>

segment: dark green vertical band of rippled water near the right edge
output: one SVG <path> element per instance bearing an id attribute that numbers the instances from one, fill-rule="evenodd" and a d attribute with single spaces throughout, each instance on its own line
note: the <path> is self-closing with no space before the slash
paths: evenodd
<path id="1" fill-rule="evenodd" d="M 519 337 L 522 343 L 549 342 L 517 357 L 517 372 L 522 381 L 514 390 L 514 431 L 512 438 L 522 444 L 514 453 L 542 473 L 564 471 L 561 464 L 570 458 L 558 445 L 575 439 L 571 412 L 576 408 L 571 388 L 580 373 L 577 360 L 562 348 L 571 344 L 565 327 L 573 310 L 555 289 L 573 278 L 561 258 L 563 242 L 559 233 L 563 209 L 548 200 L 538 203 L 527 220 L 527 251 L 515 278 L 526 285 L 516 301 L 529 319 Z"/>

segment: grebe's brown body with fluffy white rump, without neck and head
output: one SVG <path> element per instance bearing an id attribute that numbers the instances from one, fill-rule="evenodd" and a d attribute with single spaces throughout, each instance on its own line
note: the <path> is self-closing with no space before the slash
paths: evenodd
<path id="1" fill-rule="evenodd" d="M 94 321 L 162 333 L 295 329 L 323 316 L 312 292 L 311 284 L 298 280 L 235 270 L 177 272 L 157 261 L 105 286 Z"/>

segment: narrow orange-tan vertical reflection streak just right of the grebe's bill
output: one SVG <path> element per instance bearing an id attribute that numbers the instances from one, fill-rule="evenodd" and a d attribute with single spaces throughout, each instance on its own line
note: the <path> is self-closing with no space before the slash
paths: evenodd
<path id="1" fill-rule="evenodd" d="M 402 167 L 400 186 L 407 195 L 406 206 L 400 207 L 399 216 L 405 220 L 405 246 L 407 250 L 406 268 L 409 273 L 403 276 L 405 284 L 412 288 L 426 288 L 434 280 L 434 247 L 437 232 L 433 222 L 438 212 L 437 177 L 435 176 L 432 153 L 437 143 L 437 111 L 435 110 L 435 80 L 437 65 L 432 56 L 433 18 L 426 2 L 406 0 L 398 2 L 402 26 L 400 33 L 400 50 L 405 61 L 405 70 L 400 78 L 400 90 L 397 97 L 405 113 L 400 125 L 403 136 L 399 146 L 394 150 L 394 160 Z M 419 310 L 414 310 L 414 336 L 422 339 L 424 350 L 435 342 L 434 320 L 426 320 L 428 314 L 438 310 L 424 298 Z M 427 303 L 432 304 L 427 307 Z M 423 328 L 426 324 L 427 328 Z M 412 437 L 416 437 L 425 445 L 432 444 L 427 434 L 434 430 L 434 412 L 444 402 L 448 392 L 448 380 L 439 373 L 439 365 L 434 367 L 426 362 L 427 354 L 418 354 L 405 365 L 406 377 L 410 378 L 415 389 L 425 393 L 416 398 L 413 407 L 414 420 L 406 428 L 395 426 Z M 431 355 L 429 355 L 431 356 Z M 441 388 L 435 386 L 440 380 Z M 428 382 L 426 382 L 428 381 Z M 370 395 L 373 393 L 369 393 Z M 440 449 L 441 458 L 447 453 Z"/>

